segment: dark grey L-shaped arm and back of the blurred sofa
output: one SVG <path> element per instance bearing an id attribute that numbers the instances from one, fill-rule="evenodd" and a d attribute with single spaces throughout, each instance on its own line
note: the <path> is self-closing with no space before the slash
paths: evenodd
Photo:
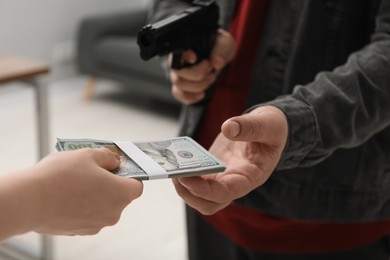
<path id="1" fill-rule="evenodd" d="M 87 17 L 81 21 L 77 32 L 76 63 L 81 72 L 93 71 L 93 46 L 101 37 L 109 35 L 129 35 L 135 37 L 145 25 L 146 8 L 137 8 L 128 12 L 112 13 Z"/>

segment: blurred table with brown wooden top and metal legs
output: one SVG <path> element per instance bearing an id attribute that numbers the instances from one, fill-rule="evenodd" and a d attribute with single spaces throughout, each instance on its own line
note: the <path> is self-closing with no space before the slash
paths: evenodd
<path id="1" fill-rule="evenodd" d="M 0 54 L 0 87 L 3 83 L 22 81 L 33 87 L 38 133 L 38 160 L 49 154 L 49 110 L 47 100 L 47 84 L 44 76 L 49 73 L 49 66 L 34 60 L 6 56 Z M 53 241 L 49 236 L 41 236 L 42 250 L 40 257 L 28 256 L 21 249 L 3 243 L 0 252 L 16 259 L 53 259 Z"/>

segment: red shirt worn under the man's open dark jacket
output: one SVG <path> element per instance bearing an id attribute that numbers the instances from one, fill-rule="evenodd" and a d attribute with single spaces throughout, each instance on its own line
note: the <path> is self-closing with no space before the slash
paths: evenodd
<path id="1" fill-rule="evenodd" d="M 246 108 L 248 86 L 256 59 L 267 1 L 241 0 L 229 28 L 237 55 L 218 83 L 195 134 L 208 148 L 222 123 Z M 389 221 L 335 224 L 277 218 L 253 209 L 230 205 L 205 220 L 236 244 L 262 252 L 320 253 L 369 244 L 390 231 Z"/>

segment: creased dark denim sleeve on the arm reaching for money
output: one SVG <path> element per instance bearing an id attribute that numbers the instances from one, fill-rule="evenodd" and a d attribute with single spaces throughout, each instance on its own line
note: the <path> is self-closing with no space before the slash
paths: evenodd
<path id="1" fill-rule="evenodd" d="M 289 124 L 278 169 L 312 166 L 390 126 L 390 1 L 382 1 L 367 46 L 267 104 L 282 109 Z"/>

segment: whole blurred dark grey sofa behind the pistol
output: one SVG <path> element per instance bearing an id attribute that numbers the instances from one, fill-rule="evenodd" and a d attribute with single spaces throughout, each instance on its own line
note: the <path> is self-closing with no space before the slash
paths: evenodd
<path id="1" fill-rule="evenodd" d="M 78 29 L 76 64 L 82 74 L 115 80 L 145 97 L 178 104 L 157 57 L 144 61 L 136 43 L 146 8 L 84 18 Z M 89 84 L 91 85 L 91 84 Z"/>

